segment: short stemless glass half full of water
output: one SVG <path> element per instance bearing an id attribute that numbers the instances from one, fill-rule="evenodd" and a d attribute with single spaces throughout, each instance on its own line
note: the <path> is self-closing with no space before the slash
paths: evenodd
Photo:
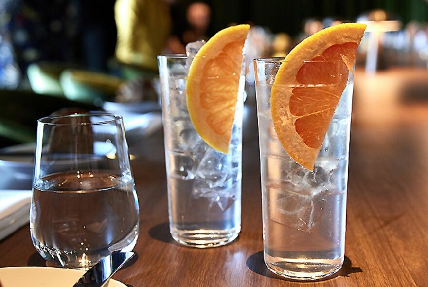
<path id="1" fill-rule="evenodd" d="M 139 207 L 121 116 L 38 120 L 34 167 L 30 231 L 43 258 L 89 269 L 134 248 Z"/>

